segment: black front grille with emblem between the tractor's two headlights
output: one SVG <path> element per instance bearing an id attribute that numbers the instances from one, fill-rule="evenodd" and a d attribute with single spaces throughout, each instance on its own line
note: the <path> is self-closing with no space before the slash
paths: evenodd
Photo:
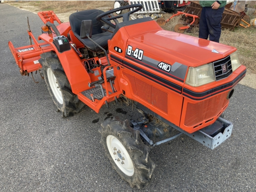
<path id="1" fill-rule="evenodd" d="M 230 74 L 232 73 L 230 56 L 227 56 L 226 58 L 218 61 L 214 61 L 213 66 L 214 66 L 216 81 L 224 79 L 230 76 Z"/>

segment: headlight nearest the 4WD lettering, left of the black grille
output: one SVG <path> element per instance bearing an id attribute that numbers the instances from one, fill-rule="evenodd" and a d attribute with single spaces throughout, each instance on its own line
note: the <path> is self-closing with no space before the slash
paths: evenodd
<path id="1" fill-rule="evenodd" d="M 200 67 L 189 67 L 186 84 L 198 87 L 212 81 L 215 81 L 215 73 L 212 63 Z"/>

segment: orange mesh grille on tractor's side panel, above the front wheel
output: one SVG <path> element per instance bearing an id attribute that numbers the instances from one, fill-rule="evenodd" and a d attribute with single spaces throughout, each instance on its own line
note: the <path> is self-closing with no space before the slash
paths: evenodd
<path id="1" fill-rule="evenodd" d="M 140 97 L 145 102 L 154 105 L 164 113 L 168 113 L 168 93 L 129 73 L 123 72 L 123 75 L 129 79 L 134 95 Z"/>

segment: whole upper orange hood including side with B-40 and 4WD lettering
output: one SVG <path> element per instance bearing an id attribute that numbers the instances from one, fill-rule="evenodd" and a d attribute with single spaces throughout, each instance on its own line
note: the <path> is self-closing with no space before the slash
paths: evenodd
<path id="1" fill-rule="evenodd" d="M 153 20 L 129 22 L 134 21 L 123 24 L 111 39 L 111 56 L 119 62 L 122 57 L 125 67 L 147 77 L 153 74 L 182 85 L 189 67 L 218 61 L 236 51 L 235 47 L 163 30 Z"/>

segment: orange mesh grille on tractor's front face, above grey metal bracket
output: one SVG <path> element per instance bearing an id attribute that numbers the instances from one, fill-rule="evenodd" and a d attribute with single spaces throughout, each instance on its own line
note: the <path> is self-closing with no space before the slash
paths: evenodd
<path id="1" fill-rule="evenodd" d="M 188 127 L 197 126 L 217 116 L 221 109 L 228 103 L 227 94 L 222 93 L 198 103 L 188 102 L 184 125 Z"/>

